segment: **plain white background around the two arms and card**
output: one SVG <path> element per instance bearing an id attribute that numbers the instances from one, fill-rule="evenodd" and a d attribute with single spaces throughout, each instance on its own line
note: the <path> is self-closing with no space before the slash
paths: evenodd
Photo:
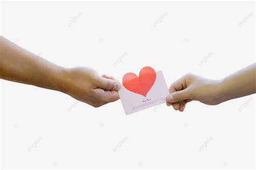
<path id="1" fill-rule="evenodd" d="M 221 79 L 255 62 L 254 13 L 253 2 L 3 2 L 1 30 L 64 67 L 121 80 L 151 66 L 171 84 L 187 72 Z M 126 116 L 120 101 L 95 109 L 56 91 L 1 83 L 5 168 L 254 167 L 254 95 Z"/>

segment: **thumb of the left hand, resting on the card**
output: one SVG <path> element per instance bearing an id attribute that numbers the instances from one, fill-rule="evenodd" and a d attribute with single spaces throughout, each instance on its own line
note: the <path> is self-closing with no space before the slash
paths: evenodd
<path id="1" fill-rule="evenodd" d="M 106 79 L 105 77 L 100 77 L 97 82 L 98 88 L 110 91 L 110 90 L 119 90 L 120 89 L 120 83 L 112 80 L 112 79 Z"/>

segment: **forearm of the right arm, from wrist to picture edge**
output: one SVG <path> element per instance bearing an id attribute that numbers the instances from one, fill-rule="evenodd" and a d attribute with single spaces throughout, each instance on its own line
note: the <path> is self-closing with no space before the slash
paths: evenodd
<path id="1" fill-rule="evenodd" d="M 256 64 L 238 70 L 221 80 L 221 100 L 228 101 L 256 93 Z"/>

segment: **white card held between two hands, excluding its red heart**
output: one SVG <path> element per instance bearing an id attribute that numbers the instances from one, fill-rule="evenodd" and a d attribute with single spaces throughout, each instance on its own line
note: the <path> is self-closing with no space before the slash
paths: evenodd
<path id="1" fill-rule="evenodd" d="M 156 72 L 156 80 L 146 97 L 127 90 L 123 84 L 118 93 L 126 115 L 165 103 L 166 96 L 170 94 L 161 71 Z"/>

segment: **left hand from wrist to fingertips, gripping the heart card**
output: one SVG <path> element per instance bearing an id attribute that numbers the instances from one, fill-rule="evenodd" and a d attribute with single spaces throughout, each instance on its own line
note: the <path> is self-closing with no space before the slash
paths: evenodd
<path id="1" fill-rule="evenodd" d="M 93 107 L 100 107 L 119 99 L 117 90 L 120 89 L 120 83 L 111 76 L 100 76 L 94 69 L 66 69 L 64 79 L 64 93 Z"/>

